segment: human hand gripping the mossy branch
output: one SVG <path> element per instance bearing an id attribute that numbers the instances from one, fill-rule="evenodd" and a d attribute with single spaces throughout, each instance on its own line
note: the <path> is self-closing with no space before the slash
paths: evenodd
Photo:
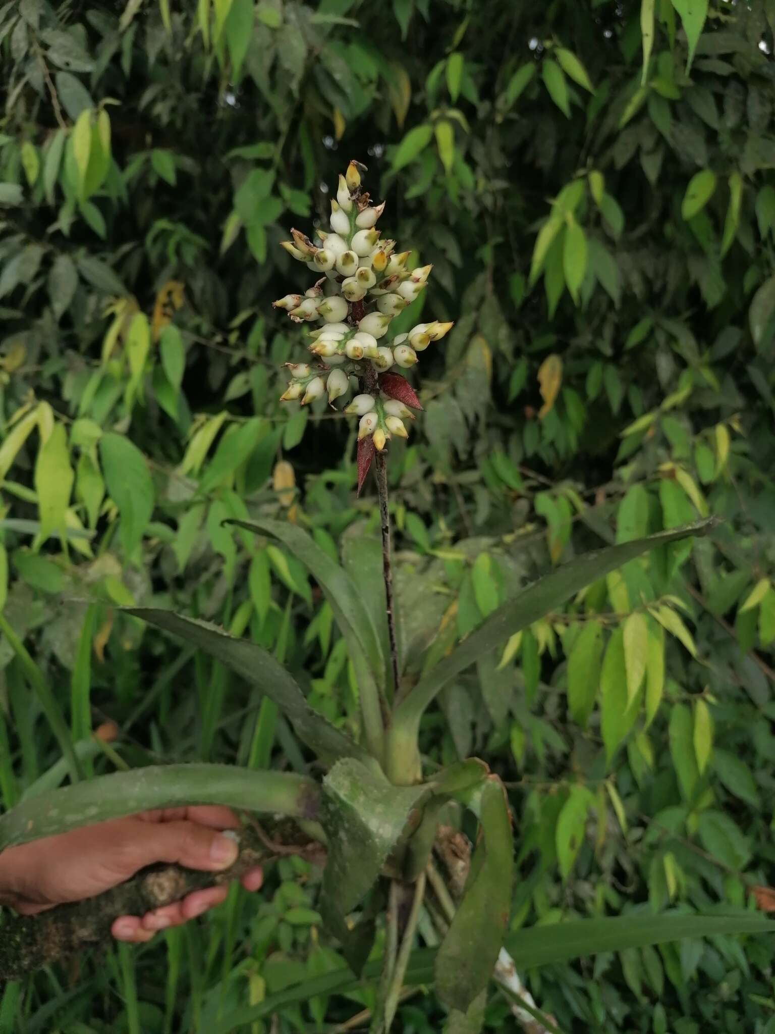
<path id="1" fill-rule="evenodd" d="M 103 893 L 154 862 L 218 873 L 234 864 L 239 853 L 235 841 L 221 831 L 238 827 L 227 808 L 169 808 L 8 848 L 0 854 L 0 905 L 34 915 Z M 261 881 L 260 869 L 250 870 L 241 880 L 246 890 L 257 890 Z M 227 892 L 226 886 L 208 887 L 143 916 L 119 916 L 113 936 L 120 941 L 149 941 L 156 931 L 180 925 L 219 905 Z"/>

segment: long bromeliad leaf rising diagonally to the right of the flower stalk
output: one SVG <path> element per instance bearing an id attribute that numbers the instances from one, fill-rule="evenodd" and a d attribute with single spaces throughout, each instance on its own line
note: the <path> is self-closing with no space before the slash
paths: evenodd
<path id="1" fill-rule="evenodd" d="M 515 599 L 499 607 L 448 657 L 420 680 L 396 711 L 393 722 L 396 734 L 402 739 L 415 735 L 426 707 L 456 675 L 516 632 L 527 628 L 561 606 L 586 585 L 657 546 L 679 542 L 691 536 L 706 535 L 715 523 L 713 518 L 709 518 L 670 531 L 660 531 L 646 539 L 636 539 L 632 542 L 596 550 L 563 565 L 534 582 Z"/>

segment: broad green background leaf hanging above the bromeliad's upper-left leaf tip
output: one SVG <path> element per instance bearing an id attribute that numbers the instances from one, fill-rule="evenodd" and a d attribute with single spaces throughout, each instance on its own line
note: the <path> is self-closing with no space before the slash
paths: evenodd
<path id="1" fill-rule="evenodd" d="M 121 543 L 130 556 L 140 545 L 153 514 L 153 481 L 143 453 L 122 434 L 103 434 L 99 439 L 99 454 L 107 493 L 121 517 Z"/>

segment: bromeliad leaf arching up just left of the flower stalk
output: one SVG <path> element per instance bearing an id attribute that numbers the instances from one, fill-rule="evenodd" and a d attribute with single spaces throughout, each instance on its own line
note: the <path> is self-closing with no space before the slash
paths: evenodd
<path id="1" fill-rule="evenodd" d="M 384 688 L 384 656 L 371 613 L 349 575 L 306 531 L 292 524 L 276 520 L 234 520 L 228 523 L 279 540 L 320 585 L 347 640 L 355 668 L 367 742 L 372 754 L 381 757 L 383 727 L 379 691 Z"/>

